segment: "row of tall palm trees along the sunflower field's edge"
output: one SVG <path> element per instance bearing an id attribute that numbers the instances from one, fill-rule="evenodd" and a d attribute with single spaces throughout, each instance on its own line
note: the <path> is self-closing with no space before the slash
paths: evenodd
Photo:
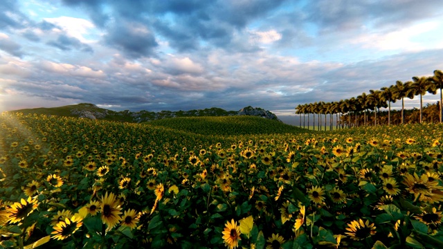
<path id="1" fill-rule="evenodd" d="M 314 102 L 308 104 L 299 104 L 296 107 L 296 114 L 300 116 L 303 115 L 303 126 L 305 128 L 305 116 L 307 116 L 307 126 L 309 127 L 309 115 L 314 116 L 314 130 L 315 130 L 315 115 L 317 115 L 317 129 L 321 130 L 322 126 L 320 124 L 320 118 L 324 116 L 324 124 L 326 130 L 327 115 L 329 114 L 329 129 L 332 129 L 332 116 L 336 115 L 336 128 L 338 128 L 338 116 L 347 116 L 347 121 L 342 120 L 340 122 L 340 127 L 351 127 L 352 125 L 359 125 L 359 119 L 357 115 L 363 113 L 363 124 L 369 124 L 368 112 L 374 113 L 374 126 L 377 126 L 377 112 L 380 108 L 388 108 L 388 125 L 391 123 L 390 117 L 390 104 L 397 100 L 401 100 L 401 124 L 404 124 L 404 98 L 413 99 L 416 95 L 420 96 L 420 111 L 419 111 L 419 122 L 423 119 L 423 100 L 422 97 L 426 93 L 436 94 L 437 89 L 440 89 L 440 104 L 439 104 L 439 118 L 442 122 L 442 89 L 443 89 L 443 72 L 440 70 L 435 70 L 433 76 L 431 77 L 412 77 L 412 81 L 401 82 L 397 80 L 395 84 L 385 87 L 383 86 L 380 90 L 370 90 L 368 94 L 361 93 L 361 95 L 356 98 L 350 98 L 348 100 L 340 100 L 338 102 Z M 373 110 L 373 111 L 371 111 Z M 378 111 L 377 111 L 378 110 Z M 351 122 L 351 116 L 354 116 L 354 123 Z M 342 118 L 343 119 L 343 118 Z"/>

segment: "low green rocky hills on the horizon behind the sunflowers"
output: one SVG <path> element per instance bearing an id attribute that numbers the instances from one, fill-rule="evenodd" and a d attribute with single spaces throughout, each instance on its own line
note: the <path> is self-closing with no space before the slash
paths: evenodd
<path id="1" fill-rule="evenodd" d="M 270 120 L 276 120 L 282 122 L 271 111 L 266 111 L 257 107 L 244 107 L 239 111 L 226 111 L 217 107 L 210 109 L 197 109 L 190 111 L 111 111 L 108 109 L 102 109 L 91 103 L 73 104 L 64 107 L 53 108 L 35 108 L 35 109 L 21 109 L 11 111 L 12 113 L 29 113 L 45 114 L 47 116 L 68 116 L 77 118 L 89 118 L 98 120 L 111 120 L 120 122 L 147 122 L 152 120 L 159 120 L 163 118 L 176 118 L 176 117 L 204 117 L 204 116 L 257 116 L 267 118 Z"/>

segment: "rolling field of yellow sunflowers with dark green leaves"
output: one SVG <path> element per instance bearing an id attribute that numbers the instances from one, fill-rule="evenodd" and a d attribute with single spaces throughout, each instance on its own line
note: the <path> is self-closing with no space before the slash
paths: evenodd
<path id="1" fill-rule="evenodd" d="M 443 248 L 442 124 L 0 124 L 0 248 Z"/>

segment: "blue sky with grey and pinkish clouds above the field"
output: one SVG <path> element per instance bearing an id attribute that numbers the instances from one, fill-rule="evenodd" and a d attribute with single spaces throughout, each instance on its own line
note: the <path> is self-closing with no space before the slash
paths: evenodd
<path id="1" fill-rule="evenodd" d="M 440 0 L 1 0 L 0 8 L 0 111 L 88 102 L 294 116 L 298 104 L 443 70 Z"/>

